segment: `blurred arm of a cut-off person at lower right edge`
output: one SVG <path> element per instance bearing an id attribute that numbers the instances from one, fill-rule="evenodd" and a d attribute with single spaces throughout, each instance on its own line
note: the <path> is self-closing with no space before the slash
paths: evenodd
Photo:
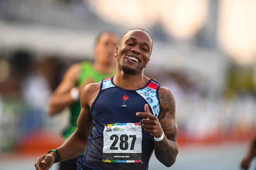
<path id="1" fill-rule="evenodd" d="M 256 156 L 256 136 L 252 140 L 248 151 L 241 162 L 241 167 L 243 169 L 248 169 L 250 167 L 251 160 Z"/>

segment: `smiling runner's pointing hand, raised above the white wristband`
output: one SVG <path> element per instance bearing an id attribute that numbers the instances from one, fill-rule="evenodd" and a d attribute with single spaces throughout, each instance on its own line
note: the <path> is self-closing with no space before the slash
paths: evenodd
<path id="1" fill-rule="evenodd" d="M 158 118 L 150 112 L 147 104 L 145 104 L 144 110 L 145 112 L 137 112 L 136 115 L 147 118 L 142 119 L 142 127 L 144 128 L 145 132 L 156 138 L 161 137 L 163 130 Z"/>

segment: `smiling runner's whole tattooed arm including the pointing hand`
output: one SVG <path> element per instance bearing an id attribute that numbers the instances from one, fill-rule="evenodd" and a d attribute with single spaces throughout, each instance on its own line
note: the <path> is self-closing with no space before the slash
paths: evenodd
<path id="1" fill-rule="evenodd" d="M 175 163 L 178 154 L 175 99 L 172 92 L 165 87 L 159 88 L 159 99 L 161 108 L 158 118 L 151 114 L 147 104 L 145 113 L 137 112 L 136 115 L 147 118 L 142 119 L 145 132 L 156 138 L 160 138 L 164 133 L 161 141 L 155 141 L 155 155 L 163 165 L 170 167 Z"/>

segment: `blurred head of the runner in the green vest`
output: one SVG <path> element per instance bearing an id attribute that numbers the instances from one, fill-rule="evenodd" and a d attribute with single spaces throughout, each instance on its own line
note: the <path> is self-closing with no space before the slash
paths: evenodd
<path id="1" fill-rule="evenodd" d="M 96 60 L 103 64 L 115 62 L 115 50 L 119 37 L 113 33 L 103 33 L 95 47 Z"/>

